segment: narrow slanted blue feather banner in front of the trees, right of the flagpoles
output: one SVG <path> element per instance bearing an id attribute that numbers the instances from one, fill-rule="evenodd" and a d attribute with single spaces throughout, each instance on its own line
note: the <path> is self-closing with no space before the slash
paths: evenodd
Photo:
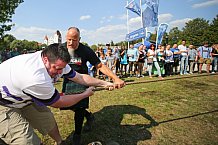
<path id="1" fill-rule="evenodd" d="M 168 27 L 167 23 L 161 23 L 157 29 L 157 38 L 156 38 L 156 48 L 157 45 L 161 44 L 164 33 L 166 32 Z"/>

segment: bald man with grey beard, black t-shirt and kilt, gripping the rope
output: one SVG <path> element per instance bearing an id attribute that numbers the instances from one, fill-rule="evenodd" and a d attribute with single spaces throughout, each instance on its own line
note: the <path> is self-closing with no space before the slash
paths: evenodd
<path id="1" fill-rule="evenodd" d="M 81 74 L 88 74 L 88 67 L 86 65 L 89 61 L 96 69 L 99 69 L 103 74 L 112 78 L 113 83 L 116 88 L 122 88 L 125 86 L 125 82 L 119 77 L 117 77 L 107 66 L 103 65 L 99 58 L 96 56 L 95 52 L 88 46 L 80 43 L 80 30 L 76 27 L 70 27 L 67 31 L 66 42 L 63 43 L 63 46 L 68 49 L 68 52 L 71 56 L 71 61 L 69 63 L 70 67 L 76 70 Z M 63 92 L 68 92 L 71 88 L 77 87 L 78 90 L 86 89 L 82 85 L 78 85 L 64 78 L 63 82 Z M 94 116 L 91 112 L 88 112 L 86 109 L 89 107 L 89 98 L 83 99 L 78 102 L 76 105 L 71 107 L 62 108 L 70 109 L 75 112 L 75 132 L 73 135 L 73 144 L 81 144 L 81 132 L 84 118 L 86 117 L 87 122 L 85 124 L 84 130 L 90 131 L 91 125 L 94 121 Z"/>

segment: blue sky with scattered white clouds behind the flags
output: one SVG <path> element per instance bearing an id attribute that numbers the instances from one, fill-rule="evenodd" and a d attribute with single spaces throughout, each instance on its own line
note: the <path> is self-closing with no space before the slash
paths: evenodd
<path id="1" fill-rule="evenodd" d="M 136 0 L 139 2 L 139 0 Z M 130 0 L 129 0 L 130 2 Z M 24 0 L 15 10 L 11 31 L 18 40 L 44 42 L 59 30 L 65 42 L 66 30 L 75 26 L 81 42 L 89 45 L 125 41 L 129 32 L 141 28 L 141 18 L 125 8 L 127 0 Z M 203 18 L 210 22 L 218 15 L 218 0 L 159 0 L 158 23 L 182 29 L 185 23 Z M 147 28 L 154 31 L 155 27 Z"/>

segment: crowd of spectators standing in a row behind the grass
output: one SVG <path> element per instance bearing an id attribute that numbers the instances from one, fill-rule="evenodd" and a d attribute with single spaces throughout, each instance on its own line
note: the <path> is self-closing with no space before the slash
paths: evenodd
<path id="1" fill-rule="evenodd" d="M 217 72 L 218 44 L 209 46 L 204 42 L 202 46 L 186 45 L 186 40 L 181 44 L 158 45 L 130 44 L 124 46 L 107 45 L 98 47 L 96 55 L 102 63 L 107 65 L 119 77 L 144 77 L 158 76 L 160 79 L 171 75 L 191 75 L 193 73 Z M 206 64 L 206 70 L 202 70 Z M 91 67 L 90 67 L 91 68 Z M 107 79 L 93 67 L 89 71 L 96 77 Z M 110 81 L 110 78 L 107 79 Z"/>

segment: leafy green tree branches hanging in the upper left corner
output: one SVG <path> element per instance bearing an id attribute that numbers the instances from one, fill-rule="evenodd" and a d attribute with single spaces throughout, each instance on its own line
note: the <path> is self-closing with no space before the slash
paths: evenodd
<path id="1" fill-rule="evenodd" d="M 23 0 L 0 0 L 0 39 L 3 37 L 5 31 L 10 31 L 14 24 L 12 22 L 12 15 L 15 9 Z"/>

